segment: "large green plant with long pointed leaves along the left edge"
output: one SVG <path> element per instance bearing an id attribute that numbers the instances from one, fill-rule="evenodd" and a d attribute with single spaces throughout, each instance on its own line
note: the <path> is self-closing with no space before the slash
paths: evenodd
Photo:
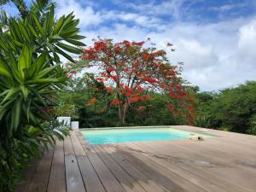
<path id="1" fill-rule="evenodd" d="M 4 2 L 4 1 L 3 1 Z M 1 2 L 1 3 L 3 3 Z M 7 2 L 7 1 L 6 1 Z M 18 1 L 15 1 L 17 3 Z M 22 1 L 19 1 L 22 2 Z M 25 3 L 17 4 L 24 7 Z M 20 9 L 18 7 L 18 9 Z M 21 18 L 1 17 L 0 29 L 0 189 L 11 191 L 18 171 L 63 139 L 69 130 L 51 115 L 55 92 L 67 79 L 59 54 L 80 54 L 79 20 L 55 20 L 55 5 L 36 1 Z M 24 11 L 26 10 L 26 11 Z M 4 13 L 4 12 L 3 12 Z M 4 15 L 4 14 L 3 14 Z"/>

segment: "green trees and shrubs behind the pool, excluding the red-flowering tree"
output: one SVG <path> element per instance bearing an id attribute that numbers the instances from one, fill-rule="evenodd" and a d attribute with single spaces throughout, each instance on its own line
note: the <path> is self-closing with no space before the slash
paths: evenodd
<path id="1" fill-rule="evenodd" d="M 70 115 L 79 119 L 80 127 L 119 126 L 117 110 L 109 103 L 113 95 L 97 91 L 102 84 L 90 76 L 72 79 L 66 90 L 59 93 L 60 107 L 56 115 Z M 68 88 L 69 87 L 69 88 Z M 188 87 L 195 100 L 193 125 L 247 134 L 256 134 L 256 82 L 248 81 L 236 88 L 217 92 L 200 92 L 198 87 Z M 166 108 L 168 101 L 159 93 L 150 93 L 147 108 L 139 110 L 142 103 L 134 103 L 127 115 L 126 125 L 184 125 L 186 117 Z"/>

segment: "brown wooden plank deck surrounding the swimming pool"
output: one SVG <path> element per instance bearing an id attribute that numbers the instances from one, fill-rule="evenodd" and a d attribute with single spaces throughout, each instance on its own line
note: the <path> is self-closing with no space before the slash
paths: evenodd
<path id="1" fill-rule="evenodd" d="M 256 137 L 206 132 L 220 137 L 89 145 L 75 131 L 32 162 L 17 191 L 255 192 Z"/>

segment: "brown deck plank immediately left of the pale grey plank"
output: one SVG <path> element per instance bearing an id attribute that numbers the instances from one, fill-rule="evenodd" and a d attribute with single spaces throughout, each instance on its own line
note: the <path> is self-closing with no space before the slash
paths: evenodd
<path id="1" fill-rule="evenodd" d="M 49 174 L 48 192 L 66 192 L 63 141 L 56 141 Z"/>

